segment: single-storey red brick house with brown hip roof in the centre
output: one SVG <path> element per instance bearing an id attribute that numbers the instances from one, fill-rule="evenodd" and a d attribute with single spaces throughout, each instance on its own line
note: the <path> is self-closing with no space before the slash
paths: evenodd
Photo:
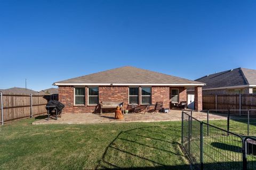
<path id="1" fill-rule="evenodd" d="M 174 77 L 132 66 L 102 71 L 53 83 L 59 88 L 59 101 L 66 113 L 99 112 L 101 101 L 123 101 L 126 109 L 131 104 L 139 106 L 163 102 L 187 100 L 187 88 L 195 88 L 195 109 L 202 109 L 202 86 L 204 83 Z"/>

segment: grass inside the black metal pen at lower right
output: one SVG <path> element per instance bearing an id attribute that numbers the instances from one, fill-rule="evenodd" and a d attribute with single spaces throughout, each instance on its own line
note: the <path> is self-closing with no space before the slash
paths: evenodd
<path id="1" fill-rule="evenodd" d="M 188 150 L 188 122 L 185 124 L 185 148 Z M 222 129 L 227 128 L 225 120 L 211 120 L 210 124 Z M 200 163 L 200 123 L 192 121 L 190 141 L 190 158 L 195 166 Z M 250 130 L 256 132 L 256 126 L 250 125 Z M 203 162 L 204 169 L 242 169 L 243 139 L 227 132 L 203 124 Z M 242 121 L 230 120 L 230 132 L 243 135 L 247 133 L 247 124 Z M 256 156 L 248 155 L 248 169 L 256 169 Z"/>

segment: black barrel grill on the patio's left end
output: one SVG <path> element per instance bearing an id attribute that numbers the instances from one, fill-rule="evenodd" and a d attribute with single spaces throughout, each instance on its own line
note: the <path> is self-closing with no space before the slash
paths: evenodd
<path id="1" fill-rule="evenodd" d="M 50 115 L 52 114 L 52 112 L 55 112 L 55 120 L 58 119 L 58 115 L 61 117 L 61 111 L 62 109 L 65 107 L 65 105 L 63 105 L 62 103 L 60 103 L 60 101 L 58 100 L 50 100 L 47 102 L 45 108 L 47 110 L 47 121 L 49 120 Z"/>

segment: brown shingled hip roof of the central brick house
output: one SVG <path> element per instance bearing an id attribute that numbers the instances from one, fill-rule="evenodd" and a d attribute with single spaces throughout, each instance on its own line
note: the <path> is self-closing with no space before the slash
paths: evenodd
<path id="1" fill-rule="evenodd" d="M 138 69 L 132 66 L 119 67 L 117 69 L 102 71 L 82 77 L 55 82 L 54 85 L 173 85 L 183 84 L 186 86 L 203 86 L 204 83 L 174 77 L 172 75 L 157 73 L 154 71 Z"/>

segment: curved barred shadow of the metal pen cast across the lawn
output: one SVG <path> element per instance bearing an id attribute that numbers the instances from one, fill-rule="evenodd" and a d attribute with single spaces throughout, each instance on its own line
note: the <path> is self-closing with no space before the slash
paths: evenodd
<path id="1" fill-rule="evenodd" d="M 172 136 L 166 132 L 171 129 L 167 128 L 149 126 L 120 132 L 105 149 L 96 169 L 189 169 L 185 163 L 179 165 L 186 158 L 178 149 L 180 143 L 170 141 Z"/>

